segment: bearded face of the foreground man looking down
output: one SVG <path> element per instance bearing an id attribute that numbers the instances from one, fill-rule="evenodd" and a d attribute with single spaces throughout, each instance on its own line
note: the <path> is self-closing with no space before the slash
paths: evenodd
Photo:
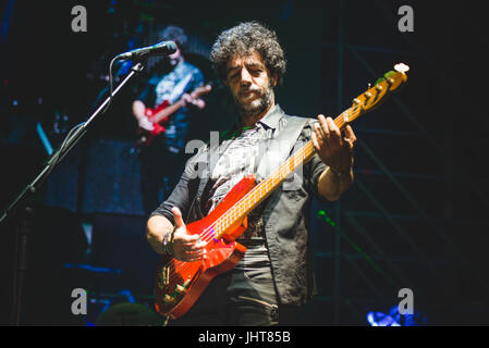
<path id="1" fill-rule="evenodd" d="M 232 58 L 228 62 L 225 84 L 243 116 L 256 116 L 274 103 L 277 76 L 270 77 L 257 52 Z"/>

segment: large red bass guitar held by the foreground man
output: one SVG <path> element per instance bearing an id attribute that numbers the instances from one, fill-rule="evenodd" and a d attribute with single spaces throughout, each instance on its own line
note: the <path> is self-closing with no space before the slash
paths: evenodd
<path id="1" fill-rule="evenodd" d="M 342 112 L 334 123 L 340 129 L 362 114 L 379 105 L 393 90 L 403 85 L 408 66 L 400 63 L 376 85 L 353 100 L 350 109 Z M 186 225 L 188 234 L 199 235 L 207 241 L 207 258 L 196 262 L 183 262 L 162 256 L 156 275 L 156 309 L 172 319 L 186 313 L 210 281 L 218 274 L 234 268 L 246 248 L 235 239 L 246 229 L 246 216 L 262 202 L 289 174 L 315 154 L 309 140 L 266 179 L 256 183 L 255 175 L 245 176 L 206 217 Z"/>

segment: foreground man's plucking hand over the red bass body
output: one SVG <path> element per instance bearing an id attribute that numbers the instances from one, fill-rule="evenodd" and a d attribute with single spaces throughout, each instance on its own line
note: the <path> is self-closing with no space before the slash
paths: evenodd
<path id="1" fill-rule="evenodd" d="M 205 258 L 207 243 L 199 239 L 198 235 L 188 235 L 180 209 L 173 207 L 171 212 L 175 220 L 175 232 L 173 233 L 173 257 L 185 262 L 200 261 Z"/>

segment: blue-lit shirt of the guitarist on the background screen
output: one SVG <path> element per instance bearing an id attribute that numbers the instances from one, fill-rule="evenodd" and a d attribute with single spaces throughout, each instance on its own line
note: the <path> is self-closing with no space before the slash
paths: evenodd
<path id="1" fill-rule="evenodd" d="M 137 98 L 146 108 L 156 108 L 164 101 L 174 103 L 184 92 L 192 92 L 204 84 L 201 72 L 191 63 L 182 61 L 166 75 L 154 74 Z M 181 153 L 184 150 L 190 127 L 190 110 L 181 108 L 170 116 L 164 133 L 167 149 Z"/>

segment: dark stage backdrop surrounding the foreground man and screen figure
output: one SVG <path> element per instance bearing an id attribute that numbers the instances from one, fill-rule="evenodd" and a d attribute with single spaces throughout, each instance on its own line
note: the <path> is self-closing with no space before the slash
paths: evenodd
<path id="1" fill-rule="evenodd" d="M 414 293 L 415 321 L 487 325 L 489 130 L 485 107 L 488 41 L 480 2 L 445 1 L 3 1 L 0 5 L 0 209 L 48 158 L 54 115 L 72 127 L 87 119 L 107 87 L 110 59 L 158 42 L 158 28 L 184 27 L 188 60 L 206 79 L 206 59 L 224 28 L 258 20 L 277 30 L 289 61 L 278 101 L 290 114 L 337 115 L 395 63 L 411 66 L 405 88 L 355 122 L 355 185 L 339 202 L 311 211 L 319 295 L 297 324 L 368 325 L 388 313 L 401 288 Z M 71 9 L 85 5 L 88 32 L 73 33 Z M 398 9 L 414 10 L 414 33 L 400 33 Z M 34 196 L 35 217 L 23 321 L 94 323 L 129 289 L 150 307 L 157 257 L 146 245 L 131 102 L 134 78 L 88 136 Z M 39 99 L 41 98 L 41 99 Z M 232 121 L 217 88 L 195 121 L 193 138 Z M 318 215 L 323 211 L 322 215 Z M 93 227 L 87 240 L 83 224 Z M 0 323 L 10 323 L 15 220 L 0 226 Z M 108 268 L 87 271 L 68 264 Z M 106 271 L 110 271 L 106 270 Z M 115 271 L 113 271 L 115 270 Z M 119 270 L 119 271 L 118 271 Z M 71 290 L 89 290 L 87 318 L 71 314 Z"/>

